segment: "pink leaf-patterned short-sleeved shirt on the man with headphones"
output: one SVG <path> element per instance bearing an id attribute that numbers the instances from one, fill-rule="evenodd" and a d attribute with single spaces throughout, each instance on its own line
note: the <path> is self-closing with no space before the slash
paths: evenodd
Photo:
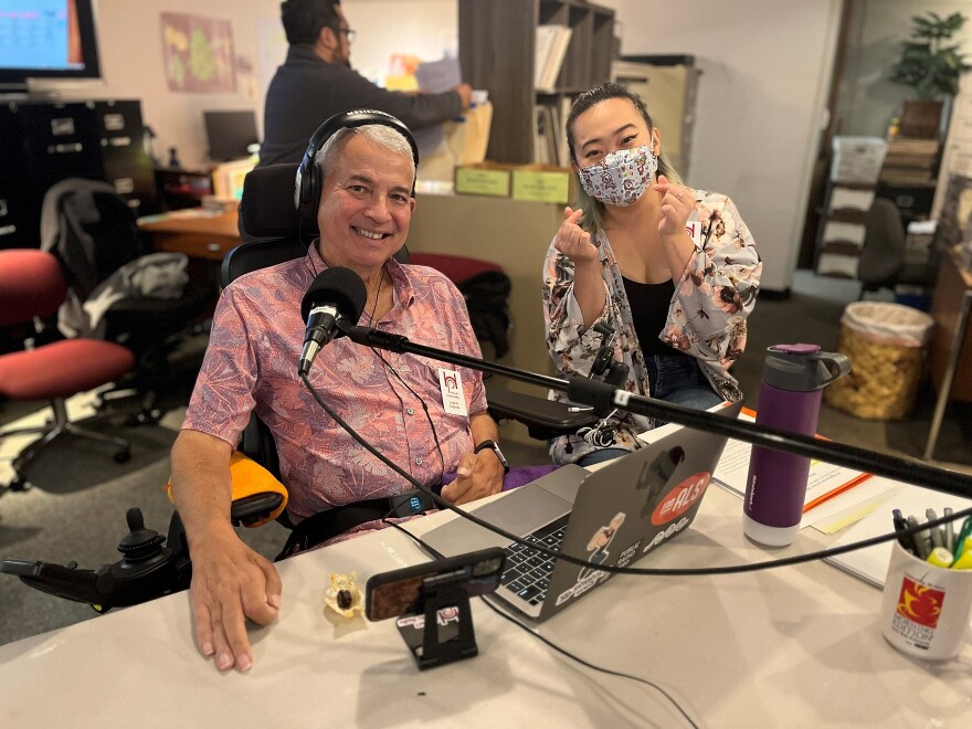
<path id="1" fill-rule="evenodd" d="M 480 356 L 465 302 L 448 278 L 394 260 L 385 266 L 394 304 L 373 326 L 413 344 Z M 223 290 L 182 425 L 235 446 L 255 409 L 276 439 L 294 522 L 412 488 L 331 420 L 297 377 L 305 328 L 300 300 L 326 267 L 313 245 L 306 257 L 246 274 Z M 371 326 L 367 311 L 360 325 Z M 443 409 L 440 367 L 455 369 L 415 355 L 379 356 L 341 337 L 321 349 L 309 377 L 325 402 L 366 441 L 420 482 L 437 484 L 443 469 L 454 472 L 461 456 L 473 451 L 468 418 Z M 458 372 L 468 413 L 485 412 L 480 374 Z M 367 522 L 349 533 L 380 526 Z"/>

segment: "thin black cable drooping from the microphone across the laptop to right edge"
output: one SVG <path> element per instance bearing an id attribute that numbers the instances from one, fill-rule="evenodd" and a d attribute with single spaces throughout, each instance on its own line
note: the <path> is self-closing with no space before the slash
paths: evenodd
<path id="1" fill-rule="evenodd" d="M 328 405 L 317 390 L 314 389 L 314 385 L 310 384 L 310 380 L 307 373 L 302 373 L 300 379 L 304 381 L 304 384 L 310 391 L 310 394 L 317 401 L 317 404 L 330 415 L 335 422 L 338 423 L 355 441 L 361 445 L 366 451 L 368 451 L 376 458 L 381 461 L 389 468 L 399 474 L 402 478 L 409 482 L 412 486 L 415 487 L 416 490 L 422 492 L 425 496 L 431 498 L 433 503 L 439 506 L 448 509 L 455 514 L 458 514 L 462 518 L 472 521 L 473 524 L 483 527 L 484 529 L 488 529 L 489 531 L 499 535 L 506 539 L 509 539 L 510 542 L 516 542 L 518 545 L 522 545 L 528 549 L 531 549 L 536 552 L 540 552 L 541 554 L 546 554 L 547 557 L 552 557 L 553 559 L 561 559 L 566 562 L 570 562 L 571 564 L 577 564 L 579 567 L 589 567 L 593 568 L 600 572 L 606 572 L 609 574 L 641 574 L 641 575 L 649 575 L 649 577 L 690 577 L 690 575 L 714 575 L 714 574 L 736 574 L 740 572 L 758 572 L 761 570 L 774 569 L 778 567 L 788 567 L 790 564 L 801 564 L 803 562 L 813 562 L 816 560 L 827 559 L 828 557 L 836 557 L 837 554 L 844 554 L 846 552 L 856 551 L 858 549 L 866 549 L 867 547 L 873 547 L 875 545 L 880 545 L 886 541 L 891 541 L 892 539 L 899 539 L 906 536 L 912 536 L 925 531 L 927 529 L 931 529 L 933 527 L 941 526 L 949 521 L 955 521 L 958 519 L 963 519 L 965 517 L 972 517 L 972 508 L 968 508 L 961 511 L 954 511 L 950 515 L 939 517 L 938 519 L 932 519 L 929 521 L 925 521 L 915 527 L 909 527 L 908 529 L 901 529 L 900 531 L 891 531 L 886 535 L 879 535 L 877 537 L 870 537 L 868 539 L 863 539 L 860 541 L 855 541 L 849 545 L 844 545 L 843 547 L 835 547 L 823 549 L 814 552 L 806 552 L 804 554 L 795 554 L 793 557 L 784 557 L 782 559 L 774 560 L 763 560 L 761 562 L 750 562 L 748 564 L 728 564 L 725 567 L 695 567 L 695 568 L 674 568 L 674 569 L 659 569 L 659 568 L 637 568 L 637 567 L 613 567 L 608 564 L 594 564 L 593 562 L 582 559 L 580 557 L 574 557 L 573 554 L 568 554 L 566 552 L 560 552 L 548 547 L 543 547 L 538 543 L 527 542 L 522 537 L 513 533 L 501 527 L 497 527 L 496 525 L 489 524 L 485 519 L 480 519 L 475 514 L 465 511 L 457 507 L 456 505 L 447 501 L 442 498 L 441 495 L 433 492 L 431 488 L 425 486 L 424 484 L 420 484 L 418 479 L 412 477 L 406 471 L 398 466 L 393 461 L 391 461 L 383 453 L 378 451 L 373 445 L 368 443 L 353 427 L 351 427 L 335 410 Z"/>

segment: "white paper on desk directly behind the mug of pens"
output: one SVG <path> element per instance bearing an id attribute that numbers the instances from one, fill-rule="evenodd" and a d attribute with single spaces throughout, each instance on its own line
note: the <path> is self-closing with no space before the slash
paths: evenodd
<path id="1" fill-rule="evenodd" d="M 831 547 L 843 547 L 862 539 L 879 537 L 895 530 L 891 521 L 891 509 L 901 509 L 901 514 L 918 517 L 925 521 L 925 510 L 934 509 L 938 516 L 944 515 L 944 508 L 951 507 L 954 511 L 972 508 L 972 500 L 949 496 L 930 488 L 900 484 L 887 495 L 884 503 L 865 519 L 844 532 Z M 959 522 L 959 527 L 961 522 Z M 959 527 L 955 527 L 958 529 Z M 858 549 L 845 554 L 828 557 L 825 561 L 837 567 L 865 582 L 884 588 L 885 578 L 888 574 L 888 562 L 891 559 L 891 542 L 886 541 L 867 549 Z"/>

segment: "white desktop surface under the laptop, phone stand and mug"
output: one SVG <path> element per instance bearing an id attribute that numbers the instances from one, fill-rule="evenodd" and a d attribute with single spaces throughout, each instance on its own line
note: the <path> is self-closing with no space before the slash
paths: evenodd
<path id="1" fill-rule="evenodd" d="M 710 487 L 691 529 L 638 567 L 762 559 L 742 537 L 740 511 L 738 497 Z M 453 517 L 422 526 L 444 518 Z M 824 543 L 812 532 L 775 553 Z M 331 571 L 357 569 L 363 584 L 419 561 L 404 535 L 385 529 L 281 563 L 279 620 L 252 631 L 247 674 L 220 674 L 199 656 L 188 593 L 2 646 L 0 726 L 685 726 L 653 689 L 568 661 L 477 600 L 479 656 L 427 672 L 393 621 L 325 614 Z M 878 590 L 820 562 L 622 575 L 539 630 L 664 686 L 700 726 L 972 726 L 972 647 L 939 667 L 912 662 L 880 636 L 879 601 Z"/>

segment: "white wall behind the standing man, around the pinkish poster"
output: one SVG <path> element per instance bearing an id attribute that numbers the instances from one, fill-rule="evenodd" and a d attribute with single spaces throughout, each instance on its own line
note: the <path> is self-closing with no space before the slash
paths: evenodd
<path id="1" fill-rule="evenodd" d="M 35 91 L 55 91 L 65 99 L 140 99 L 145 123 L 157 135 L 157 158 L 165 163 L 168 148 L 175 146 L 187 168 L 209 163 L 203 110 L 252 108 L 262 129 L 266 85 L 286 55 L 279 0 L 95 0 L 95 3 L 103 80 L 39 83 Z M 351 28 L 358 30 L 351 62 L 370 77 L 383 77 L 388 73 L 392 52 L 412 53 L 425 60 L 440 59 L 443 51 L 455 53 L 455 0 L 410 0 L 408 3 L 344 0 L 341 7 Z M 169 91 L 159 24 L 162 12 L 231 21 L 236 55 L 234 93 Z"/>

